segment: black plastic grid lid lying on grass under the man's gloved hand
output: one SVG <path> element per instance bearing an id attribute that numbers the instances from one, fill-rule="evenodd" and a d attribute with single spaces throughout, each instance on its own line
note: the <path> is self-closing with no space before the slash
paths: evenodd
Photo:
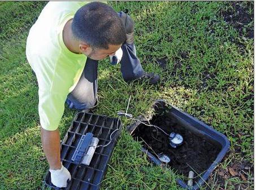
<path id="1" fill-rule="evenodd" d="M 112 151 L 116 144 L 116 140 L 122 131 L 122 126 L 122 122 L 119 118 L 99 116 L 85 112 L 77 113 L 61 143 L 60 152 L 62 164 L 68 169 L 68 171 L 70 171 L 72 179 L 66 188 L 57 188 L 51 184 L 51 175 L 48 171 L 45 176 L 45 184 L 54 189 L 99 189 L 107 169 L 107 164 L 110 161 Z M 96 148 L 89 166 L 83 164 L 79 165 L 71 160 L 81 136 L 85 135 L 87 132 L 92 132 L 93 136 L 99 139 L 98 145 L 106 145 L 109 143 L 110 135 L 112 134 L 112 140 L 109 145 L 106 147 Z"/>

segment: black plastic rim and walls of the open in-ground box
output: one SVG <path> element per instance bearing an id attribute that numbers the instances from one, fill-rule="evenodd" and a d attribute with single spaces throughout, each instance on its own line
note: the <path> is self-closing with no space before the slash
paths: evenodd
<path id="1" fill-rule="evenodd" d="M 171 105 L 168 105 L 165 100 L 157 100 L 155 101 L 153 108 L 155 110 L 154 116 L 149 118 L 150 123 L 153 122 L 153 117 L 158 117 L 158 116 L 165 116 L 172 118 L 175 120 L 175 122 L 179 123 L 179 126 L 184 127 L 186 131 L 191 131 L 193 134 L 196 134 L 196 136 L 201 136 L 204 142 L 202 143 L 207 143 L 210 142 L 211 144 L 216 145 L 218 149 L 215 150 L 216 152 L 216 157 L 214 160 L 210 161 L 209 164 L 207 165 L 207 169 L 204 170 L 201 175 L 198 175 L 199 177 L 197 178 L 197 181 L 193 182 L 193 186 L 188 187 L 184 180 L 177 179 L 177 183 L 181 185 L 181 187 L 186 188 L 186 189 L 193 189 L 196 190 L 199 187 L 205 183 L 205 181 L 209 178 L 209 175 L 212 173 L 212 171 L 215 169 L 215 167 L 218 165 L 218 163 L 222 160 L 222 158 L 225 156 L 225 153 L 228 151 L 229 148 L 229 140 L 227 137 L 220 132 L 212 129 L 210 126 L 206 125 L 205 123 L 198 121 L 196 118 L 190 116 L 187 113 L 184 113 L 180 111 L 179 109 L 172 107 Z M 143 119 L 141 119 L 143 120 Z M 145 120 L 146 121 L 146 120 Z M 142 126 L 143 125 L 143 126 Z M 147 129 L 148 126 L 144 125 L 140 121 L 137 121 L 133 123 L 131 126 L 128 126 L 128 131 L 131 133 L 131 135 L 136 134 L 136 131 L 139 129 L 139 127 L 144 127 L 140 129 Z M 166 126 L 167 127 L 167 126 Z M 168 130 L 168 129 L 166 129 Z M 171 130 L 169 129 L 169 132 Z M 147 132 L 142 132 L 141 135 L 145 135 Z M 137 137 L 136 137 L 137 138 Z M 185 143 L 186 139 L 184 139 Z M 154 145 L 154 144 L 153 144 Z M 166 147 L 167 145 L 164 144 Z M 170 147 L 170 145 L 168 145 Z M 181 145 L 182 146 L 182 145 Z M 207 145 L 206 145 L 207 147 Z M 172 147 L 170 147 L 171 149 Z M 193 147 L 192 147 L 193 148 Z M 209 150 L 211 151 L 211 149 Z M 163 165 L 163 163 L 157 158 L 156 153 L 151 151 L 150 148 L 146 149 L 145 147 L 142 148 L 142 152 L 147 154 L 147 157 L 154 162 L 157 165 Z M 183 156 L 188 156 L 186 155 L 186 152 L 183 153 Z M 180 157 L 180 159 L 183 159 L 183 157 Z M 202 163 L 198 163 L 200 165 Z M 172 166 L 171 166 L 172 167 Z M 188 176 L 184 176 L 185 178 Z M 184 179 L 185 179 L 184 178 Z"/>

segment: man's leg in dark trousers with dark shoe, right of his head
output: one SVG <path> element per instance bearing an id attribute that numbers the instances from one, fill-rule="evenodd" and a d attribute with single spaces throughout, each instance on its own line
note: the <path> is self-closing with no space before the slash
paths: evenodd
<path id="1" fill-rule="evenodd" d="M 136 48 L 134 45 L 134 21 L 123 11 L 118 12 L 118 15 L 123 21 L 127 32 L 127 41 L 122 45 L 123 56 L 120 61 L 124 81 L 145 78 L 149 79 L 150 83 L 157 83 L 160 79 L 159 76 L 154 73 L 145 73 L 140 60 L 136 56 Z"/>

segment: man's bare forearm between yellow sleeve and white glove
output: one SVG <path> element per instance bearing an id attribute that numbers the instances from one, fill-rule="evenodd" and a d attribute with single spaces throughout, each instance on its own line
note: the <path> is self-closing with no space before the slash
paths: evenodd
<path id="1" fill-rule="evenodd" d="M 62 165 L 60 162 L 60 138 L 59 130 L 47 131 L 41 129 L 41 142 L 42 148 L 44 149 L 45 156 L 49 162 L 50 169 L 59 170 Z"/>

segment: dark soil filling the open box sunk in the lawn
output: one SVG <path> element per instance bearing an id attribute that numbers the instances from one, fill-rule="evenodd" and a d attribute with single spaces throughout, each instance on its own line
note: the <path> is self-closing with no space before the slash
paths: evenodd
<path id="1" fill-rule="evenodd" d="M 166 134 L 155 127 L 144 124 L 136 127 L 132 133 L 133 138 L 141 141 L 144 148 L 154 154 L 154 156 L 158 153 L 163 153 L 170 157 L 171 162 L 168 165 L 184 177 L 188 177 L 189 171 L 194 170 L 196 171 L 194 180 L 200 179 L 199 175 L 202 176 L 209 169 L 220 152 L 219 144 L 211 142 L 210 139 L 207 139 L 198 132 L 180 125 L 175 118 L 170 116 L 154 116 L 150 123 L 160 127 L 167 134 L 173 131 L 179 133 L 183 136 L 183 144 L 180 147 L 172 148 Z"/>

